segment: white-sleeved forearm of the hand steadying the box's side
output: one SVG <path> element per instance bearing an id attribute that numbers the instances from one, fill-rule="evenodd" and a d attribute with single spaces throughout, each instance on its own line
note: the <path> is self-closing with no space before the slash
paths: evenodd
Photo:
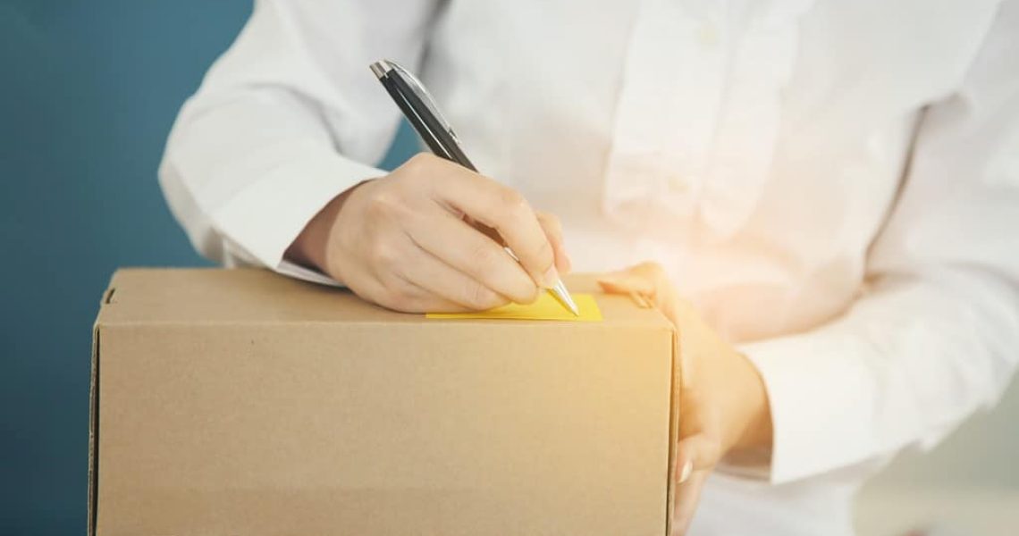
<path id="1" fill-rule="evenodd" d="M 933 444 L 997 399 L 1017 344 L 1015 284 L 962 271 L 889 278 L 835 322 L 744 345 L 774 417 L 771 481 Z"/>

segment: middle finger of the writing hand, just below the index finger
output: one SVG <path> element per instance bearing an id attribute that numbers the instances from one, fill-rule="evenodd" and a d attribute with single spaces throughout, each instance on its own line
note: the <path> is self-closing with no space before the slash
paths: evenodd
<path id="1" fill-rule="evenodd" d="M 421 220 L 407 232 L 419 248 L 495 293 L 519 304 L 538 297 L 537 285 L 520 263 L 463 220 L 441 214 Z"/>

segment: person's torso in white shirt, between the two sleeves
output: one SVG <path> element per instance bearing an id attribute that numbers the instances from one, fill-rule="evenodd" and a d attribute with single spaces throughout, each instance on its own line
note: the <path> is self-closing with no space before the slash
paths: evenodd
<path id="1" fill-rule="evenodd" d="M 921 109 L 961 83 L 996 8 L 453 0 L 422 75 L 481 172 L 562 218 L 576 269 L 658 261 L 740 342 L 809 329 L 858 296 Z M 793 511 L 827 497 L 816 518 L 835 531 L 858 479 L 721 477 L 706 502 L 749 521 L 740 497 Z M 755 526 L 699 516 L 702 534 Z"/>

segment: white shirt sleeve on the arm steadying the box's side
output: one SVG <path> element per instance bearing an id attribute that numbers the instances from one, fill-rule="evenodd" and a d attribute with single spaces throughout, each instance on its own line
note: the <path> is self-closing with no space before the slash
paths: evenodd
<path id="1" fill-rule="evenodd" d="M 993 406 L 1019 356 L 1019 3 L 922 115 L 865 291 L 837 320 L 741 350 L 771 405 L 783 483 L 930 447 Z"/>

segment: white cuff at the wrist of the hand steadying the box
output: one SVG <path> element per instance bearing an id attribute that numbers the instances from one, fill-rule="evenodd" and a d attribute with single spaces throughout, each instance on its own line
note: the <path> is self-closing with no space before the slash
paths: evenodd
<path id="1" fill-rule="evenodd" d="M 866 460 L 874 386 L 858 337 L 819 331 L 744 344 L 771 408 L 770 470 L 782 484 Z"/>

